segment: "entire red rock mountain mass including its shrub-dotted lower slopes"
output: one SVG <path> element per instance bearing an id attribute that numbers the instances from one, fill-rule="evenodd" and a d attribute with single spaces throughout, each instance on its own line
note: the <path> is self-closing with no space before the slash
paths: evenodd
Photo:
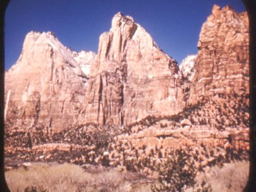
<path id="1" fill-rule="evenodd" d="M 121 166 L 153 176 L 176 158 L 173 149 L 199 172 L 248 160 L 248 41 L 246 13 L 229 6 L 213 7 L 197 56 L 180 68 L 121 13 L 97 56 L 31 32 L 6 72 L 5 164 Z"/>

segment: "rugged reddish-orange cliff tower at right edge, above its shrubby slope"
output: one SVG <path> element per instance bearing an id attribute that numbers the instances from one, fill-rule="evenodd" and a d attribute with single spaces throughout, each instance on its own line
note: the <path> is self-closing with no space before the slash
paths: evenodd
<path id="1" fill-rule="evenodd" d="M 189 104 L 218 93 L 249 94 L 249 24 L 246 12 L 214 5 L 200 32 Z M 248 99 L 247 99 L 248 100 Z"/>

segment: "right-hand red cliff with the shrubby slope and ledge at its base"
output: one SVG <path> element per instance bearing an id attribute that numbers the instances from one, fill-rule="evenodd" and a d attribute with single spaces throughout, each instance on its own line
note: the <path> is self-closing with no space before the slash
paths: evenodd
<path id="1" fill-rule="evenodd" d="M 174 116 L 149 116 L 119 139 L 135 146 L 249 150 L 249 26 L 246 12 L 214 6 L 204 23 L 197 56 L 180 65 L 187 105 Z M 233 140 L 233 141 L 232 141 Z M 240 143 L 241 142 L 241 143 Z M 247 148 L 247 149 L 245 149 Z M 240 149 L 239 149 L 240 150 Z M 238 155 L 239 156 L 239 155 Z"/>

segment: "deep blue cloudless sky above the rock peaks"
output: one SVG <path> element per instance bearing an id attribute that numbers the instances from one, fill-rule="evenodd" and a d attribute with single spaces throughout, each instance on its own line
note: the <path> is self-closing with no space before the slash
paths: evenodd
<path id="1" fill-rule="evenodd" d="M 214 4 L 245 11 L 241 0 L 11 0 L 5 14 L 5 68 L 18 60 L 30 31 L 52 31 L 75 51 L 97 52 L 98 38 L 110 30 L 118 11 L 132 16 L 180 63 L 197 53 L 201 26 Z"/>

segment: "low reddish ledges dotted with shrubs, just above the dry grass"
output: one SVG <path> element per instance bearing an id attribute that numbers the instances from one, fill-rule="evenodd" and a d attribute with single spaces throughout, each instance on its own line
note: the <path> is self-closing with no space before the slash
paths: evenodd
<path id="1" fill-rule="evenodd" d="M 183 124 L 185 127 L 181 127 Z M 19 134 L 18 138 L 12 135 L 5 147 L 5 165 L 13 166 L 14 159 L 22 162 L 57 161 L 121 165 L 135 172 L 152 174 L 156 164 L 161 165 L 165 158 L 173 157 L 173 149 L 183 149 L 191 154 L 196 169 L 248 160 L 249 128 L 217 131 L 207 126 L 187 128 L 188 124 L 191 124 L 188 119 L 180 123 L 164 119 L 146 127 L 137 124 L 131 128 L 132 134 L 120 134 L 128 131 L 127 127 L 104 126 L 98 129 L 96 125 L 87 124 L 55 133 L 51 143 L 42 140 L 32 147 L 24 147 L 30 145 L 26 136 Z M 24 142 L 16 145 L 20 139 Z"/>

